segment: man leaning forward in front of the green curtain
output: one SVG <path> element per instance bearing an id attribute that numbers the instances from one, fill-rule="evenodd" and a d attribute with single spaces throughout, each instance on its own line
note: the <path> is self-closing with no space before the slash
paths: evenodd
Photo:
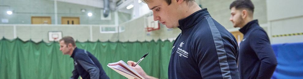
<path id="1" fill-rule="evenodd" d="M 72 37 L 63 37 L 60 42 L 60 50 L 74 59 L 73 76 L 70 79 L 109 79 L 98 59 L 90 52 L 77 48 Z"/>

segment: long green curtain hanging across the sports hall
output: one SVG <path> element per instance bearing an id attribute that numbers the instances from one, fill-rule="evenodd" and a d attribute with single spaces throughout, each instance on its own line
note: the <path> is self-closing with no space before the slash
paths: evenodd
<path id="1" fill-rule="evenodd" d="M 91 52 L 99 59 L 111 79 L 126 79 L 107 67 L 108 63 L 123 60 L 140 63 L 151 76 L 167 79 L 168 63 L 172 48 L 170 41 L 150 42 L 76 42 L 78 48 Z M 73 59 L 63 55 L 58 42 L 35 43 L 17 38 L 0 40 L 0 79 L 69 79 L 72 76 Z"/>

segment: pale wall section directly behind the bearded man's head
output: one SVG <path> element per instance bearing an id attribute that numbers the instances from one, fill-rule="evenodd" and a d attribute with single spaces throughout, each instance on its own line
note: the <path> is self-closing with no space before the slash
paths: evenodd
<path id="1" fill-rule="evenodd" d="M 202 8 L 207 8 L 211 17 L 223 25 L 226 29 L 234 29 L 230 22 L 229 6 L 234 0 L 200 0 Z M 198 1 L 196 1 L 198 2 Z M 253 19 L 258 19 L 259 24 L 267 24 L 267 10 L 265 0 L 252 0 L 255 6 Z M 199 3 L 198 3 L 199 4 Z M 261 26 L 265 27 L 265 26 Z M 237 29 L 238 30 L 238 29 Z"/>

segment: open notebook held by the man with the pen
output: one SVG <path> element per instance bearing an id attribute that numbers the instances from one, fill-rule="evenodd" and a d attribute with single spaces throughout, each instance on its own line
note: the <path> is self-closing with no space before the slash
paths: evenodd
<path id="1" fill-rule="evenodd" d="M 127 77 L 128 79 L 144 79 L 140 74 L 138 74 L 122 60 L 115 63 L 108 63 L 107 66 L 123 75 L 124 77 Z"/>

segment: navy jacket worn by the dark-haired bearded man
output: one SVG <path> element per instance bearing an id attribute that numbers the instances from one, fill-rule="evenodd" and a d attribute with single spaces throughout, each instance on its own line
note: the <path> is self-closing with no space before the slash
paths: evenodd
<path id="1" fill-rule="evenodd" d="M 269 79 L 277 66 L 266 32 L 258 20 L 247 23 L 239 30 L 244 38 L 239 48 L 239 73 L 241 79 Z"/>

